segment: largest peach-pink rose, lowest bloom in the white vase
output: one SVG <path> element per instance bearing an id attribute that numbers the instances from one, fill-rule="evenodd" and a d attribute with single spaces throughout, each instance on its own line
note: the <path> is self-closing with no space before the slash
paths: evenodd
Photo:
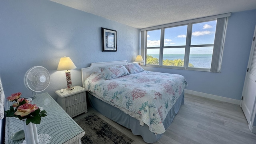
<path id="1" fill-rule="evenodd" d="M 31 112 L 34 112 L 35 110 L 37 110 L 38 107 L 36 106 L 36 104 L 22 104 L 20 107 L 18 107 L 17 111 L 14 112 L 14 114 L 16 116 L 20 115 L 20 116 L 27 116 L 28 114 L 30 114 Z"/>

